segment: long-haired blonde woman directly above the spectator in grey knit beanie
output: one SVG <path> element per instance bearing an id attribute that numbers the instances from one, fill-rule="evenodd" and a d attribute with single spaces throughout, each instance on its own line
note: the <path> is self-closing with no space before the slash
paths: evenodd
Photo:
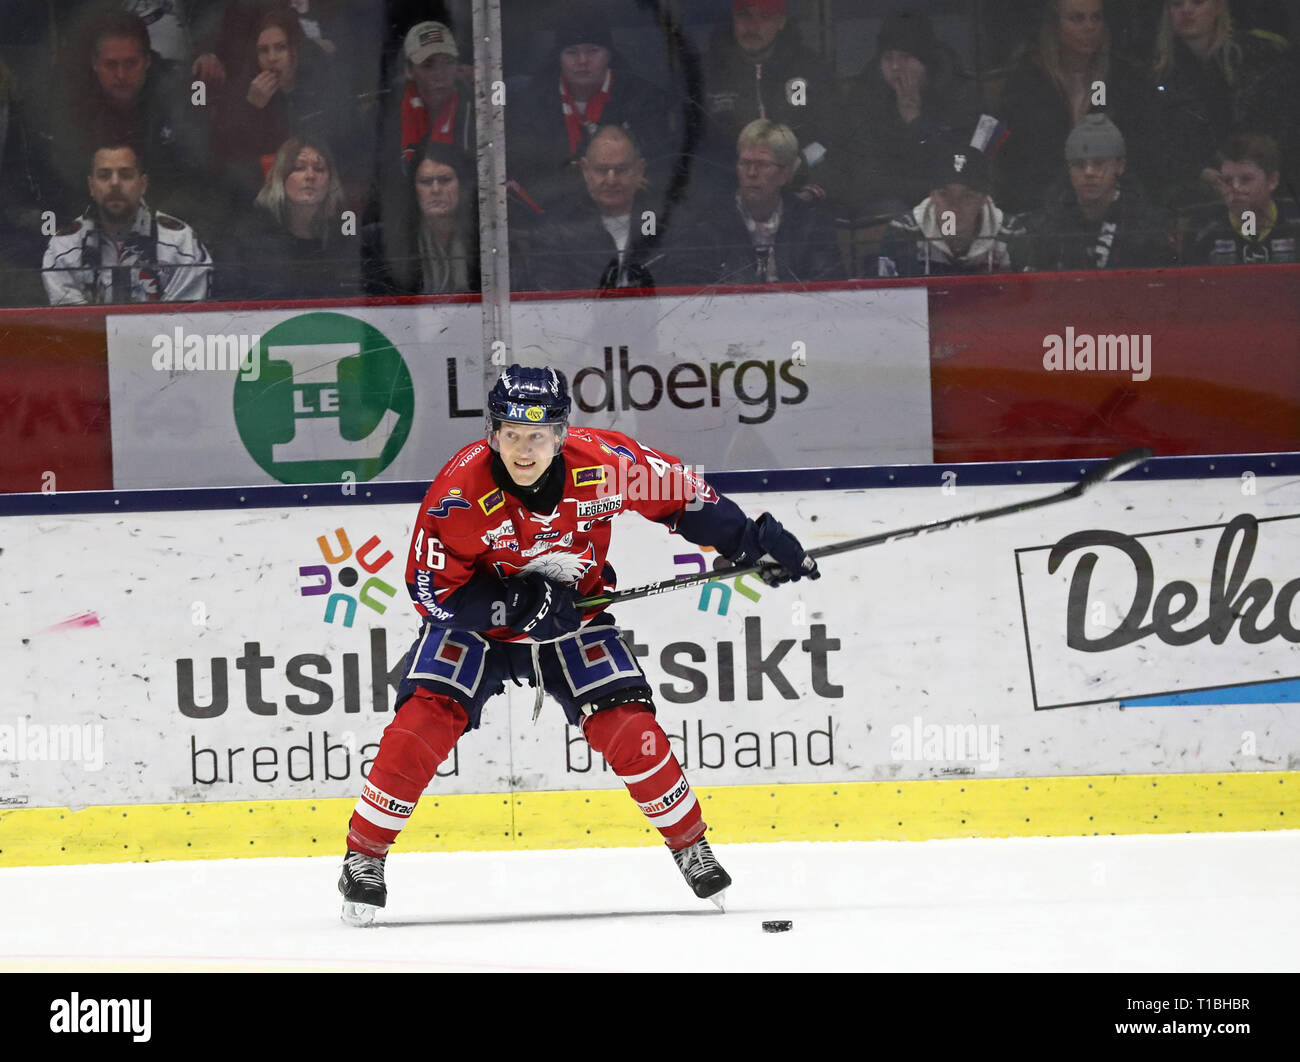
<path id="1" fill-rule="evenodd" d="M 1010 136 L 997 157 L 997 201 L 1009 211 L 1041 208 L 1066 136 L 1095 110 L 1123 131 L 1130 168 L 1149 175 L 1141 144 L 1152 135 L 1152 107 L 1144 73 L 1110 47 L 1102 0 L 1044 0 L 1037 36 L 1002 90 L 998 117 Z"/>

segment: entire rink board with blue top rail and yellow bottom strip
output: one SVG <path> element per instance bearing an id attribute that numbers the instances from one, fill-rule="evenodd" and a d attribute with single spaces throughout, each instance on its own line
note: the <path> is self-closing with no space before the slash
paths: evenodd
<path id="1" fill-rule="evenodd" d="M 1286 827 L 1300 814 L 1300 464 L 1191 461 L 829 558 L 815 584 L 718 582 L 616 610 L 712 828 Z M 1053 469 L 1054 484 L 1032 465 L 1002 468 L 1010 482 L 898 469 L 898 486 L 867 487 L 818 471 L 768 495 L 754 487 L 775 473 L 716 478 L 811 547 L 1039 498 L 1079 472 Z M 838 489 L 815 489 L 826 480 Z M 415 634 L 416 503 L 276 490 L 234 511 L 165 491 L 0 516 L 0 863 L 342 844 Z M 623 585 L 711 564 L 658 525 L 618 526 Z M 532 699 L 508 686 L 489 705 L 404 845 L 654 840 L 558 706 L 530 721 Z"/>

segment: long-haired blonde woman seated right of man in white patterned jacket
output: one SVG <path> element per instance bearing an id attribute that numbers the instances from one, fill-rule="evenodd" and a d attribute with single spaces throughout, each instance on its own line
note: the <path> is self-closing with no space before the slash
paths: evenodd
<path id="1" fill-rule="evenodd" d="M 239 227 L 238 264 L 218 278 L 222 298 L 358 294 L 359 239 L 344 234 L 343 185 L 324 140 L 285 140 L 257 192 L 256 207 Z"/>

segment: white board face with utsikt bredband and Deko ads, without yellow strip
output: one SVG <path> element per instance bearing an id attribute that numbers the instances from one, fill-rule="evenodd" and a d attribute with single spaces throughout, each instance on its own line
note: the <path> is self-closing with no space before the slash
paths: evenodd
<path id="1" fill-rule="evenodd" d="M 950 484 L 949 484 L 950 485 Z M 1300 762 L 1300 485 L 1080 500 L 615 610 L 697 786 Z M 738 495 L 812 547 L 1050 493 Z M 358 790 L 416 633 L 415 504 L 0 517 L 0 806 Z M 624 586 L 711 558 L 633 516 Z M 507 686 L 434 788 L 615 788 Z"/>

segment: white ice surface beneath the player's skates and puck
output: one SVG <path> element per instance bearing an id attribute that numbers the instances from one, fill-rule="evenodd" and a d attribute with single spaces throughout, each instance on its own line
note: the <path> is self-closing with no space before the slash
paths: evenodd
<path id="1" fill-rule="evenodd" d="M 725 914 L 662 849 L 0 870 L 5 970 L 1296 971 L 1300 831 L 715 842 Z M 766 919 L 792 920 L 764 933 Z"/>

